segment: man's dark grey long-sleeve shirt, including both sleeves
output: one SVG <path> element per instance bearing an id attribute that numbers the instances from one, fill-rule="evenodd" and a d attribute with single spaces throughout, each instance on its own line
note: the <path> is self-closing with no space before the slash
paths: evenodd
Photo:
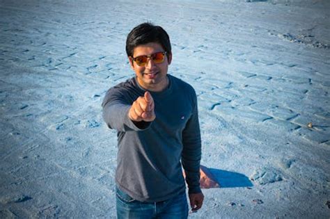
<path id="1" fill-rule="evenodd" d="M 104 121 L 118 131 L 116 184 L 141 202 L 164 201 L 185 190 L 182 166 L 189 193 L 201 192 L 196 92 L 175 76 L 168 74 L 168 79 L 164 91 L 150 92 L 152 122 L 129 120 L 132 103 L 146 92 L 135 77 L 110 88 L 102 102 Z"/>

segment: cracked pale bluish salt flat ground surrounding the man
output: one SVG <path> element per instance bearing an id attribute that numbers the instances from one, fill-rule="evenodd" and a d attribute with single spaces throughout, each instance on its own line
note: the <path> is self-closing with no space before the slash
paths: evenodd
<path id="1" fill-rule="evenodd" d="M 189 218 L 329 218 L 329 1 L 0 1 L 0 218 L 115 218 L 102 98 L 127 33 L 171 36 L 221 188 Z M 157 110 L 157 109 L 156 109 Z M 308 123 L 311 126 L 308 127 Z M 159 154 L 162 156 L 162 154 Z"/>

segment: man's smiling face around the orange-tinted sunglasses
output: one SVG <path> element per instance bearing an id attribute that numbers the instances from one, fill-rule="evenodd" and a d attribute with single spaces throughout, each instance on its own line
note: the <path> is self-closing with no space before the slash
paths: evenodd
<path id="1" fill-rule="evenodd" d="M 150 56 L 151 54 L 155 54 L 159 51 L 164 51 L 161 44 L 157 42 L 149 42 L 147 44 L 142 44 L 135 47 L 133 57 Z M 139 85 L 146 90 L 157 92 L 166 88 L 166 74 L 168 65 L 171 64 L 171 59 L 172 54 L 169 55 L 169 58 L 165 56 L 164 61 L 157 64 L 154 63 L 152 58 L 148 58 L 148 63 L 146 63 L 146 65 L 139 66 L 131 57 L 129 57 L 129 64 L 136 74 Z"/>

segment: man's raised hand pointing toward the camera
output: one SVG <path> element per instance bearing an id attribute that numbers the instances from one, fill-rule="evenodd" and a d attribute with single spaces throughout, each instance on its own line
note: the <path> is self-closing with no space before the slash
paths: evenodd
<path id="1" fill-rule="evenodd" d="M 155 120 L 155 103 L 150 92 L 146 91 L 143 97 L 138 97 L 133 102 L 131 108 L 129 108 L 128 117 L 136 122 L 152 122 Z"/>

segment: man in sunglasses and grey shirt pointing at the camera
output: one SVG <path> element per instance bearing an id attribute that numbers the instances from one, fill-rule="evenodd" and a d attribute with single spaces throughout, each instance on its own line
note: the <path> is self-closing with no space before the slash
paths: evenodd
<path id="1" fill-rule="evenodd" d="M 196 93 L 167 74 L 171 43 L 162 27 L 136 26 L 126 52 L 136 76 L 110 88 L 102 102 L 104 121 L 118 131 L 117 216 L 187 218 L 182 166 L 192 211 L 204 199 Z"/>

